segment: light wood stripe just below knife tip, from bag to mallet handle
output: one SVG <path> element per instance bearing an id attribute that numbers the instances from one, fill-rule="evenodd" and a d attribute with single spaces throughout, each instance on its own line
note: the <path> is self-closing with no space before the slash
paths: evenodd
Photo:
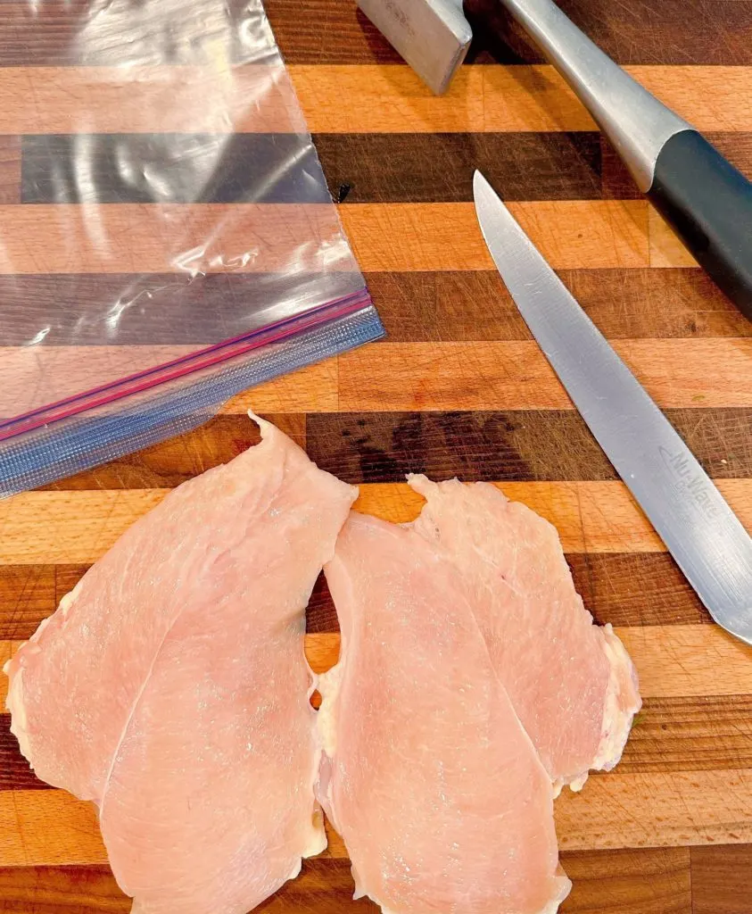
<path id="1" fill-rule="evenodd" d="M 535 200 L 509 208 L 557 270 L 692 262 L 660 218 L 649 217 L 644 200 Z M 339 213 L 364 271 L 493 270 L 471 203 L 363 203 Z M 312 239 L 332 244 L 339 230 L 328 204 L 109 204 L 97 207 L 96 237 L 79 204 L 8 205 L 0 218 L 5 275 L 253 273 L 284 269 L 291 249 L 307 251 L 301 270 L 315 270 Z M 99 232 L 108 245 L 99 243 Z M 343 250 L 327 269 L 355 265 Z"/>

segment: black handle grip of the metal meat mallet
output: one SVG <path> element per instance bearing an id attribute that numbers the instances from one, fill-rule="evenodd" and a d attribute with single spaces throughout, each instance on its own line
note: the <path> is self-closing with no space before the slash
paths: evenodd
<path id="1" fill-rule="evenodd" d="M 752 184 L 695 130 L 674 133 L 648 196 L 695 260 L 752 320 Z"/>

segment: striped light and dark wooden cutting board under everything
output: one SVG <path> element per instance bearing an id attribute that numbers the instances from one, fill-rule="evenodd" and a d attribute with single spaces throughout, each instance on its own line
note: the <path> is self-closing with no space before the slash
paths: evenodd
<path id="1" fill-rule="evenodd" d="M 563 5 L 752 175 L 752 2 Z M 20 0 L 2 7 L 0 204 L 10 218 L 25 199 L 18 134 L 30 129 L 26 106 L 10 100 L 39 78 L 26 68 L 44 66 L 66 84 L 65 48 L 86 4 L 49 0 L 34 29 Z M 353 0 L 268 8 L 388 338 L 250 391 L 180 439 L 0 503 L 0 654 L 165 491 L 255 441 L 243 415 L 251 404 L 323 469 L 361 484 L 364 510 L 392 520 L 418 510 L 401 482 L 408 471 L 500 483 L 556 524 L 578 589 L 598 622 L 618 627 L 645 699 L 617 771 L 556 803 L 574 881 L 563 910 L 749 914 L 752 651 L 710 622 L 526 332 L 482 244 L 472 169 L 512 201 L 747 526 L 752 325 L 696 269 L 519 37 L 495 57 L 481 49 L 437 99 Z M 317 590 L 312 664 L 332 664 L 337 640 Z M 333 835 L 262 907 L 371 907 L 351 894 Z M 128 909 L 90 807 L 37 781 L 0 717 L 0 910 Z"/>

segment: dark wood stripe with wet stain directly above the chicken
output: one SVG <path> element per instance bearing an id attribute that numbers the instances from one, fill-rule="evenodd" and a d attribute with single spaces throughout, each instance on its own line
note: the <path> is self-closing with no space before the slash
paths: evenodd
<path id="1" fill-rule="evenodd" d="M 715 479 L 752 475 L 752 409 L 666 409 Z M 400 483 L 407 473 L 464 482 L 567 482 L 619 477 L 572 409 L 493 412 L 279 414 L 270 419 L 313 461 L 355 485 Z M 258 441 L 242 413 L 43 486 L 57 491 L 173 488 Z M 560 442 L 566 441 L 567 447 Z"/>

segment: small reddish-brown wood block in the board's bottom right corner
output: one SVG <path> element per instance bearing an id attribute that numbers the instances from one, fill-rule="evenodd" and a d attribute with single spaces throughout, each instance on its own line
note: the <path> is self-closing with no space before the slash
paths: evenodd
<path id="1" fill-rule="evenodd" d="M 692 861 L 692 914 L 748 914 L 752 845 L 697 846 Z"/>

